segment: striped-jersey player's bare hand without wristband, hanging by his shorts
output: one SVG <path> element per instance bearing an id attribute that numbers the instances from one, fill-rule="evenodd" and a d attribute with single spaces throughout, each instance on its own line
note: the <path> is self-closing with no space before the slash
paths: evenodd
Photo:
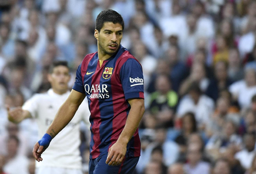
<path id="1" fill-rule="evenodd" d="M 109 148 L 108 157 L 106 160 L 106 164 L 109 166 L 118 166 L 122 163 L 125 154 L 126 154 L 126 146 L 125 143 L 116 142 Z"/>

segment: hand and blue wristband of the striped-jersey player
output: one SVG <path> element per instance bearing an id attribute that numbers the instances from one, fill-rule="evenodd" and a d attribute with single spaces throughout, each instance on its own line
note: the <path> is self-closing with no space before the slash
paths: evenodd
<path id="1" fill-rule="evenodd" d="M 41 157 L 41 154 L 46 150 L 46 148 L 50 145 L 50 142 L 52 141 L 51 135 L 45 133 L 41 140 L 39 140 L 33 148 L 33 157 L 38 162 L 42 161 L 43 158 Z"/>

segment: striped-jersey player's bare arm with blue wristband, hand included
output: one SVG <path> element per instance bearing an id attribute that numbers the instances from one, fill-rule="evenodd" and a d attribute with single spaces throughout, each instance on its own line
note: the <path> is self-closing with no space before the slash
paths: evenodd
<path id="1" fill-rule="evenodd" d="M 60 107 L 53 122 L 46 131 L 46 137 L 43 136 L 43 138 L 40 140 L 42 141 L 42 144 L 44 144 L 43 141 L 45 139 L 47 140 L 49 136 L 51 136 L 50 139 L 53 139 L 72 120 L 84 98 L 85 94 L 77 92 L 75 90 L 71 91 L 67 100 Z M 41 154 L 49 146 L 49 143 L 46 143 L 46 147 L 44 147 L 43 145 L 39 145 L 39 142 L 34 145 L 33 156 L 37 161 L 42 161 Z"/>

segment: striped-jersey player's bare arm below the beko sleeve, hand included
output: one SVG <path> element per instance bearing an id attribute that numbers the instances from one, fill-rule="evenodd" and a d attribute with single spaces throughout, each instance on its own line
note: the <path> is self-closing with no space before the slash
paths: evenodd
<path id="1" fill-rule="evenodd" d="M 106 164 L 120 165 L 126 154 L 127 143 L 131 140 L 134 132 L 138 128 L 139 122 L 145 111 L 144 99 L 136 98 L 128 100 L 131 110 L 127 117 L 125 127 L 119 136 L 118 141 L 109 148 Z"/>

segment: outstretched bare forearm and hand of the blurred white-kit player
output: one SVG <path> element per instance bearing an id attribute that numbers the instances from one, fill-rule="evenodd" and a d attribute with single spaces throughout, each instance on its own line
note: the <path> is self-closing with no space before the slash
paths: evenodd
<path id="1" fill-rule="evenodd" d="M 30 112 L 21 107 L 10 109 L 9 106 L 6 106 L 6 109 L 8 111 L 8 120 L 13 123 L 19 123 L 26 118 L 32 118 Z"/>

